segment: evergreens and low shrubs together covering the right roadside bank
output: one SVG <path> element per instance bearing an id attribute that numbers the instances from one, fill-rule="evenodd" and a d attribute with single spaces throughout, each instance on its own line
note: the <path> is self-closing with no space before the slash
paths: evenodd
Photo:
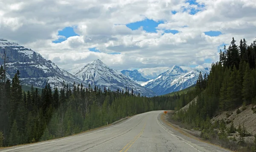
<path id="1" fill-rule="evenodd" d="M 189 104 L 186 110 L 179 110 L 179 105 L 183 103 L 177 103 L 171 121 L 200 131 L 201 138 L 222 147 L 239 152 L 256 152 L 256 136 L 247 132 L 244 123 L 236 128 L 233 120 L 211 121 L 214 116 L 241 106 L 236 110 L 239 117 L 247 105 L 256 104 L 256 42 L 247 45 L 246 40 L 241 40 L 239 46 L 235 42 L 233 38 L 228 48 L 224 46 L 224 50 L 220 51 L 220 61 L 212 64 L 207 77 L 199 75 L 195 86 L 196 102 Z M 255 110 L 255 106 L 250 110 Z M 230 115 L 227 113 L 226 117 Z M 253 115 L 256 117 L 256 114 Z M 246 141 L 248 136 L 253 139 Z"/>

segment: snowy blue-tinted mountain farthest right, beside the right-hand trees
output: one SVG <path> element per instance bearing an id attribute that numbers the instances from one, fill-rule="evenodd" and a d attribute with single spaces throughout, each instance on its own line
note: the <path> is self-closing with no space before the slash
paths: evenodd
<path id="1" fill-rule="evenodd" d="M 209 69 L 173 66 L 171 69 L 160 74 L 156 79 L 147 82 L 145 87 L 156 92 L 157 95 L 165 95 L 193 86 L 198 80 L 200 72 L 202 75 L 205 73 L 209 74 Z"/>

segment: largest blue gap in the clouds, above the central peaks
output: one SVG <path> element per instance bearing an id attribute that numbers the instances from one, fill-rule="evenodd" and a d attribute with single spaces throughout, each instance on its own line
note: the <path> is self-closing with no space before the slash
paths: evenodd
<path id="1" fill-rule="evenodd" d="M 143 30 L 145 30 L 146 32 L 156 32 L 156 27 L 161 23 L 164 23 L 164 22 L 163 21 L 156 22 L 154 20 L 145 19 L 142 21 L 126 24 L 126 26 L 131 30 L 136 30 L 136 29 L 139 29 L 140 26 L 143 26 Z"/>

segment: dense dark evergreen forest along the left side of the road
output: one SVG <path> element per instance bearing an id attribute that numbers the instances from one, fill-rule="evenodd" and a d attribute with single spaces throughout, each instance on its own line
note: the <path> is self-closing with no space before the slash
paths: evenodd
<path id="1" fill-rule="evenodd" d="M 174 109 L 175 103 L 188 103 L 191 96 L 135 95 L 133 90 L 111 91 L 90 85 L 63 83 L 60 90 L 48 85 L 41 94 L 37 88 L 24 92 L 19 71 L 6 80 L 0 68 L 0 146 L 33 143 L 73 135 L 113 123 L 127 116 L 151 110 Z M 182 106 L 182 105 L 181 105 Z"/>

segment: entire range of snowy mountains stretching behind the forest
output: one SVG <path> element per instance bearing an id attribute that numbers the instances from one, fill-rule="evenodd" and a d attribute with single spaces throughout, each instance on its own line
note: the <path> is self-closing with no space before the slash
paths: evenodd
<path id="1" fill-rule="evenodd" d="M 173 66 L 151 80 L 143 77 L 138 70 L 118 72 L 101 60 L 94 60 L 67 72 L 32 49 L 0 39 L 0 56 L 3 56 L 4 52 L 7 56 L 8 77 L 13 77 L 19 70 L 22 84 L 39 88 L 43 88 L 47 83 L 58 88 L 61 88 L 64 82 L 68 86 L 72 86 L 74 82 L 83 83 L 85 86 L 90 83 L 91 86 L 96 85 L 102 89 L 109 87 L 112 90 L 125 90 L 127 87 L 130 92 L 133 89 L 136 94 L 151 97 L 185 89 L 196 83 L 200 72 L 203 75 L 209 73 L 209 69 Z M 0 58 L 0 65 L 3 65 L 3 58 Z"/>

